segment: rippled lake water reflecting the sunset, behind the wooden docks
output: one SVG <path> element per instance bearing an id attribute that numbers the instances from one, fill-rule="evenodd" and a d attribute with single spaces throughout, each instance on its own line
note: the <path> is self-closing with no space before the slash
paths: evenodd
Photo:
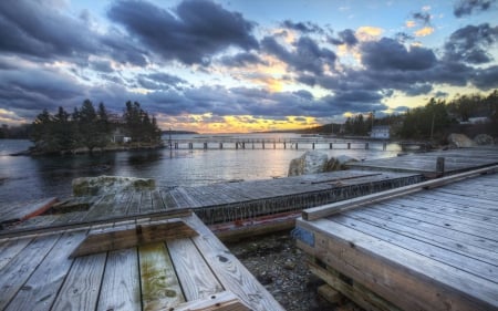
<path id="1" fill-rule="evenodd" d="M 199 136 L 199 135 L 195 135 Z M 236 135 L 234 135 L 236 136 Z M 237 135 L 257 138 L 284 139 L 295 134 Z M 188 138 L 176 135 L 173 138 Z M 167 139 L 167 137 L 165 137 Z M 307 149 L 174 149 L 134 151 L 97 155 L 51 157 L 10 156 L 28 149 L 29 141 L 0 139 L 0 204 L 23 201 L 51 196 L 71 195 L 71 182 L 76 177 L 117 175 L 156 179 L 158 187 L 195 186 L 232 179 L 255 180 L 284 177 L 292 158 Z M 360 159 L 395 156 L 395 144 L 382 151 L 382 145 L 370 149 L 328 149 L 330 156 L 350 155 Z"/>

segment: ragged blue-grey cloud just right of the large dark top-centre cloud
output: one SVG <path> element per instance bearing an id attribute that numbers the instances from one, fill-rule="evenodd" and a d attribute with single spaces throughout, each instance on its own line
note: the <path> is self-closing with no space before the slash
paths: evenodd
<path id="1" fill-rule="evenodd" d="M 320 48 L 309 37 L 301 37 L 293 43 L 295 52 L 288 51 L 272 37 L 266 37 L 261 41 L 261 45 L 266 52 L 276 55 L 294 70 L 315 75 L 323 74 L 325 64 L 333 69 L 336 60 L 334 52 L 325 48 Z"/>

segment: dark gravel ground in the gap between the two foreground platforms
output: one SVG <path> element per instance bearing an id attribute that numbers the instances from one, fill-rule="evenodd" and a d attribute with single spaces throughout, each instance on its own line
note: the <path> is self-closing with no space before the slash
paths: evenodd
<path id="1" fill-rule="evenodd" d="M 230 251 L 288 311 L 361 310 L 352 302 L 332 304 L 318 294 L 324 282 L 307 267 L 307 257 L 289 232 L 227 243 Z"/>

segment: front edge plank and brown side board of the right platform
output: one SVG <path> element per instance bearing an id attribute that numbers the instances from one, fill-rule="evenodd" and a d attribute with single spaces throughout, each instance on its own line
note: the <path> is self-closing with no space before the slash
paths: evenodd
<path id="1" fill-rule="evenodd" d="M 313 253 L 405 310 L 491 310 L 497 283 L 326 219 L 298 227 L 315 236 Z"/>

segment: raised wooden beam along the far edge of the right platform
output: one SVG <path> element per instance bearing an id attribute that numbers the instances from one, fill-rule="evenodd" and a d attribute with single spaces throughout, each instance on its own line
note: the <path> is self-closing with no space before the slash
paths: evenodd
<path id="1" fill-rule="evenodd" d="M 419 184 L 415 184 L 415 185 L 409 185 L 409 186 L 405 186 L 405 187 L 400 187 L 400 188 L 395 188 L 395 189 L 391 189 L 391 190 L 386 190 L 386 191 L 382 191 L 382 193 L 377 193 L 377 194 L 366 195 L 366 196 L 362 196 L 362 197 L 357 197 L 357 198 L 353 198 L 353 199 L 349 199 L 349 200 L 343 200 L 343 201 L 333 203 L 333 204 L 326 204 L 326 205 L 322 205 L 322 206 L 318 206 L 318 207 L 313 207 L 313 208 L 303 210 L 302 218 L 304 220 L 314 220 L 314 219 L 328 217 L 328 216 L 331 216 L 331 215 L 334 215 L 338 212 L 342 212 L 345 210 L 362 207 L 362 206 L 365 206 L 369 204 L 378 203 L 378 201 L 383 201 L 383 200 L 395 198 L 395 197 L 401 197 L 401 196 L 408 195 L 412 193 L 421 191 L 423 189 L 432 189 L 432 188 L 440 187 L 440 186 L 452 184 L 452 183 L 455 183 L 455 182 L 458 182 L 461 179 L 475 177 L 475 176 L 483 175 L 483 174 L 496 173 L 496 172 L 498 172 L 498 165 L 479 168 L 479 169 L 471 170 L 471 172 L 465 172 L 465 173 L 460 173 L 460 174 L 456 174 L 456 175 L 450 175 L 447 177 L 428 180 L 428 182 L 424 182 L 424 183 L 419 183 Z"/>

